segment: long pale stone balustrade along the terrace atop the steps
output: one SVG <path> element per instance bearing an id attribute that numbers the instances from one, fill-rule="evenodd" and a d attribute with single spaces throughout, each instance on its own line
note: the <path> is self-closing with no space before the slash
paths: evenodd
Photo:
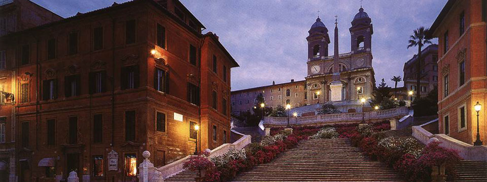
<path id="1" fill-rule="evenodd" d="M 406 107 L 398 107 L 388 110 L 370 111 L 365 113 L 339 113 L 339 114 L 325 114 L 316 116 L 303 117 L 264 117 L 264 124 L 271 125 L 287 125 L 289 124 L 310 124 L 334 121 L 360 121 L 362 117 L 365 120 L 382 119 L 396 116 L 405 116 L 409 113 Z"/>

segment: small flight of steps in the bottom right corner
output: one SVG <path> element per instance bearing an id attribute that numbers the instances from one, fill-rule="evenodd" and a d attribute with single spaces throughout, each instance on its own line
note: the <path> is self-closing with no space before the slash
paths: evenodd
<path id="1" fill-rule="evenodd" d="M 487 162 L 463 160 L 455 166 L 458 178 L 454 181 L 487 181 Z"/>

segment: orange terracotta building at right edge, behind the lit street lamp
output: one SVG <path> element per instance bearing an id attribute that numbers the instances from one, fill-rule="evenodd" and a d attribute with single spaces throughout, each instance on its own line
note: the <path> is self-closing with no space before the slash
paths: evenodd
<path id="1" fill-rule="evenodd" d="M 446 3 L 430 28 L 438 38 L 439 131 L 474 144 L 487 136 L 487 1 L 465 0 Z M 482 105 L 477 113 L 476 103 Z"/>

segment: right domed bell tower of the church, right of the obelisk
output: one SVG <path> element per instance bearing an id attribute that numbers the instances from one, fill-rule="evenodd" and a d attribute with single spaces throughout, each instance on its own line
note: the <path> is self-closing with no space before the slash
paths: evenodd
<path id="1" fill-rule="evenodd" d="M 372 20 L 362 7 L 352 20 L 352 27 L 349 30 L 352 38 L 352 54 L 370 52 L 374 29 Z"/>

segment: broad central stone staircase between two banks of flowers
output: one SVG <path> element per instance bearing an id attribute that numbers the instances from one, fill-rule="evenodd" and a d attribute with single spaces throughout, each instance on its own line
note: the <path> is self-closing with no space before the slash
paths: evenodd
<path id="1" fill-rule="evenodd" d="M 232 181 L 404 181 L 372 161 L 347 139 L 303 141 L 267 164 L 237 174 Z"/>

